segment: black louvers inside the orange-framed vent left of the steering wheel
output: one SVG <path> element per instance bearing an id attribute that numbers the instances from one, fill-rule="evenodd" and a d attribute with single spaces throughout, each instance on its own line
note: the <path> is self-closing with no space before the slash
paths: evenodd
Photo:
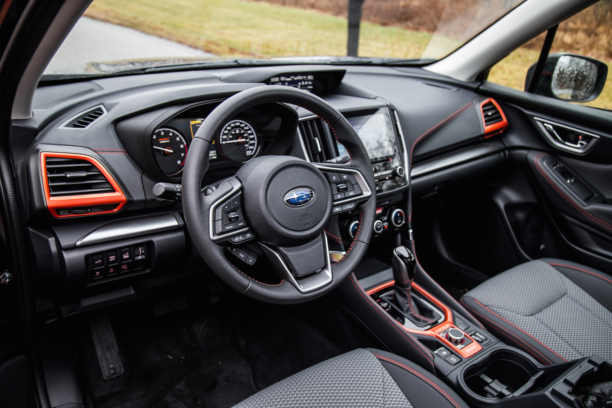
<path id="1" fill-rule="evenodd" d="M 115 192 L 94 164 L 81 159 L 46 157 L 51 197 Z"/>

